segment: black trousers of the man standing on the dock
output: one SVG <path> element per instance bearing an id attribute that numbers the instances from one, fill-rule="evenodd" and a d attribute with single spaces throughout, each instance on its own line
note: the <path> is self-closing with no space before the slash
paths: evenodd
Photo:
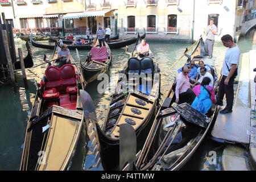
<path id="1" fill-rule="evenodd" d="M 229 84 L 225 85 L 224 81 L 226 79 L 226 76 L 222 76 L 218 88 L 218 97 L 217 99 L 219 101 L 222 101 L 224 98 L 224 95 L 226 94 L 226 109 L 232 110 L 233 108 L 233 101 L 234 101 L 234 78 L 229 79 Z"/>

